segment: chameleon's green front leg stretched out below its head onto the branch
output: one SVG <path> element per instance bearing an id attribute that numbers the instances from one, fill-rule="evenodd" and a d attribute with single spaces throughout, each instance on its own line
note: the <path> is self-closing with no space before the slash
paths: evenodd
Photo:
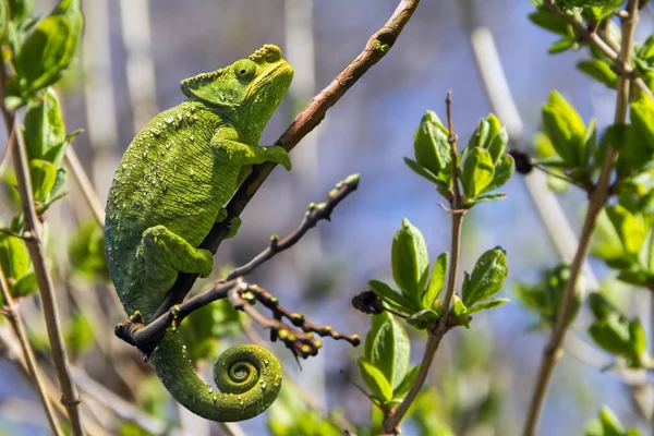
<path id="1" fill-rule="evenodd" d="M 259 145 L 244 144 L 239 141 L 239 133 L 232 128 L 220 128 L 211 138 L 214 156 L 216 159 L 237 167 L 258 165 L 263 162 L 275 162 L 291 170 L 291 160 L 283 147 L 271 145 L 262 147 Z"/>

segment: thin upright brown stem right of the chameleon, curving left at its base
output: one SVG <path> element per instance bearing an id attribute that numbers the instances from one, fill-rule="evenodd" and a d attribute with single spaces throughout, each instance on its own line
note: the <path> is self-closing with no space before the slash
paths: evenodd
<path id="1" fill-rule="evenodd" d="M 448 130 L 449 130 L 449 143 L 451 148 L 451 166 L 452 166 L 452 191 L 453 195 L 451 196 L 450 209 L 452 210 L 452 232 L 451 232 L 451 262 L 449 265 L 448 271 L 448 282 L 447 289 L 445 292 L 445 299 L 443 303 L 441 316 L 438 319 L 438 324 L 434 329 L 428 329 L 429 336 L 427 337 L 427 343 L 425 346 L 425 351 L 423 354 L 422 362 L 420 363 L 420 368 L 417 372 L 417 376 L 407 393 L 407 397 L 402 400 L 402 403 L 398 407 L 395 412 L 390 413 L 387 417 L 384 419 L 382 424 L 384 432 L 388 434 L 399 434 L 399 425 L 409 408 L 420 393 L 425 379 L 429 373 L 429 368 L 432 366 L 432 362 L 434 361 L 434 355 L 438 350 L 438 346 L 443 340 L 445 334 L 451 328 L 448 324 L 450 305 L 452 298 L 455 295 L 455 290 L 457 288 L 457 271 L 459 267 L 459 255 L 461 252 L 461 225 L 463 222 L 463 216 L 465 215 L 465 210 L 461 209 L 461 205 L 463 203 L 463 198 L 461 197 L 460 186 L 459 186 L 459 177 L 457 170 L 457 135 L 453 129 L 452 121 L 452 112 L 451 112 L 451 93 L 447 94 L 447 118 L 448 118 Z"/>

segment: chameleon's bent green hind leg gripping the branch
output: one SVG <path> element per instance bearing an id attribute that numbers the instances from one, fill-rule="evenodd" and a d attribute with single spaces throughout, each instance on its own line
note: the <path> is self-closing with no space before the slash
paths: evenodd
<path id="1" fill-rule="evenodd" d="M 180 271 L 201 277 L 211 274 L 211 253 L 192 246 L 166 226 L 150 227 L 143 232 L 143 252 L 146 275 L 157 280 L 174 280 Z"/>

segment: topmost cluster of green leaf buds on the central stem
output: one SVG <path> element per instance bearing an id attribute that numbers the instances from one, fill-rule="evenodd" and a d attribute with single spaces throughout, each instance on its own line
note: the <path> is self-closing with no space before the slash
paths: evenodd
<path id="1" fill-rule="evenodd" d="M 456 159 L 457 180 L 464 194 L 462 206 L 504 198 L 493 191 L 506 184 L 516 168 L 513 158 L 505 153 L 507 130 L 489 114 L 482 119 L 472 134 L 468 147 Z M 404 162 L 419 175 L 436 185 L 446 198 L 453 195 L 452 146 L 447 128 L 436 113 L 427 111 L 422 118 L 414 138 L 415 160 Z"/>

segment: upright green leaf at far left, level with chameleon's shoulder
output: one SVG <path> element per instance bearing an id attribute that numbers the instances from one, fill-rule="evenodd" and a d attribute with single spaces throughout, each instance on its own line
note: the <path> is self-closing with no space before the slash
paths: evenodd
<path id="1" fill-rule="evenodd" d="M 37 105 L 27 110 L 24 124 L 25 147 L 29 159 L 45 159 L 58 166 L 61 154 L 52 156 L 51 159 L 47 156 L 51 148 L 64 144 L 65 125 L 61 118 L 59 99 L 51 87 L 46 89 Z"/>

